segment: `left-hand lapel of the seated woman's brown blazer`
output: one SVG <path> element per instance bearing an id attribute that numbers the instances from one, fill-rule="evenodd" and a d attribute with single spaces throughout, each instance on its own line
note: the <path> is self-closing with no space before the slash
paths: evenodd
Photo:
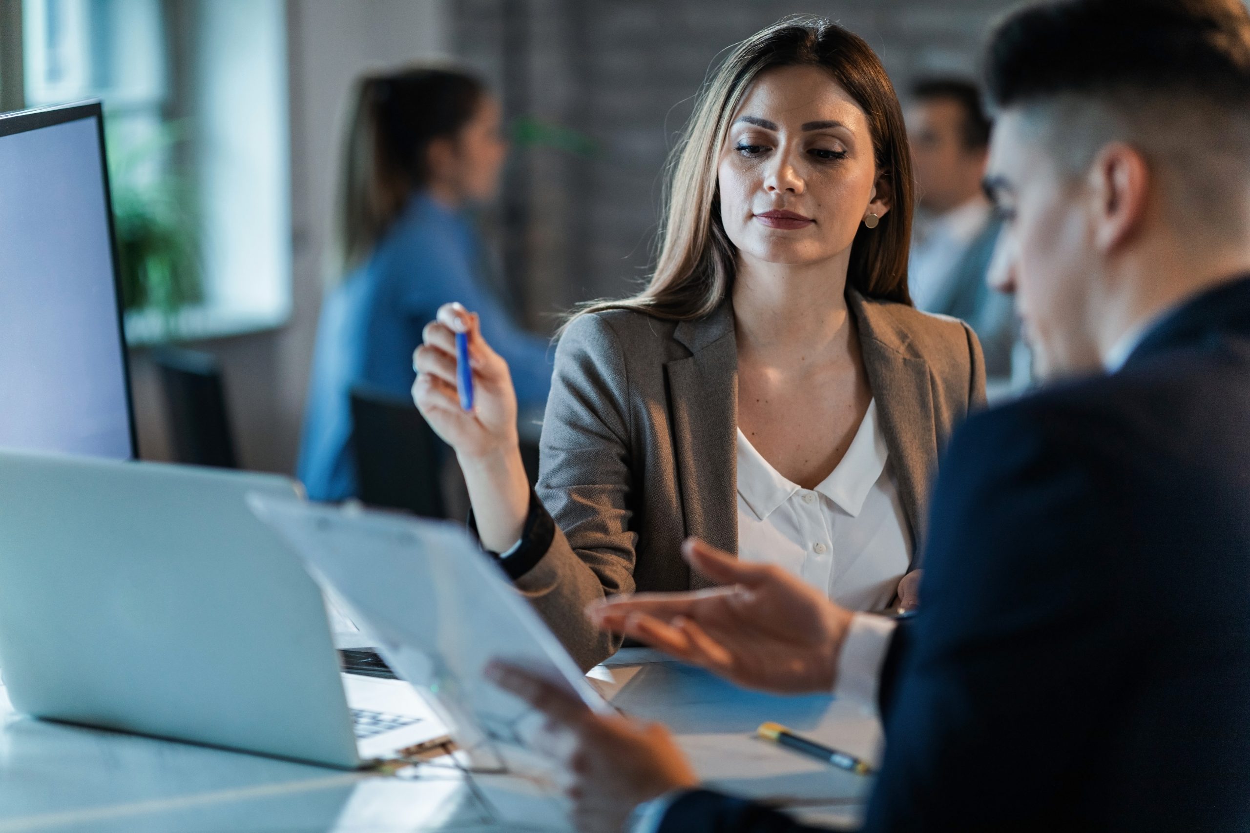
<path id="1" fill-rule="evenodd" d="M 688 536 L 738 552 L 738 343 L 730 305 L 682 321 L 674 337 L 690 356 L 665 365 L 678 490 Z M 690 576 L 691 588 L 710 586 Z"/>

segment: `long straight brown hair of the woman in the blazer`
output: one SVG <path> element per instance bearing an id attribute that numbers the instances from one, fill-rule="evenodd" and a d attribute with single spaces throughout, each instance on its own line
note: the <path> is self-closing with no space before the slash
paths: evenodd
<path id="1" fill-rule="evenodd" d="M 876 229 L 860 226 L 846 280 L 869 297 L 911 303 L 908 249 L 914 191 L 899 97 L 862 37 L 822 17 L 801 16 L 744 40 L 704 84 L 666 169 L 662 234 L 646 288 L 622 300 L 592 301 L 581 312 L 629 308 L 685 320 L 705 316 L 724 301 L 736 250 L 720 220 L 716 162 L 748 87 L 761 72 L 780 66 L 824 69 L 868 116 L 876 169 L 890 185 L 890 211 Z"/>

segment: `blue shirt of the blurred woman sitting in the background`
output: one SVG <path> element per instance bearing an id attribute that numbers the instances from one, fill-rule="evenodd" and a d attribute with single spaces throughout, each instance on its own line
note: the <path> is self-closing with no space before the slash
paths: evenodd
<path id="1" fill-rule="evenodd" d="M 298 471 L 309 497 L 340 501 L 356 493 L 351 388 L 409 396 L 412 351 L 444 303 L 460 301 L 481 316 L 482 336 L 508 361 L 522 412 L 546 402 L 549 342 L 512 323 L 484 285 L 481 262 L 481 242 L 464 212 L 418 194 L 372 256 L 326 296 Z"/>

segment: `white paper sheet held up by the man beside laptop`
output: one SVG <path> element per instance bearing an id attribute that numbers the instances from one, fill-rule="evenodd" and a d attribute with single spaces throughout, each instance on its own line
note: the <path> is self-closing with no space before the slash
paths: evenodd
<path id="1" fill-rule="evenodd" d="M 610 709 L 461 527 L 295 498 L 249 501 L 395 673 L 432 693 L 474 767 L 545 768 L 529 754 L 542 717 L 484 679 L 491 659 L 524 666 L 591 708 Z"/>

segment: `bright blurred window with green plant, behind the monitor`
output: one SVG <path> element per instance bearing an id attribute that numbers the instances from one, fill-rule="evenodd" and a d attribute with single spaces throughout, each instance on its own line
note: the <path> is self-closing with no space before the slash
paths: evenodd
<path id="1" fill-rule="evenodd" d="M 21 24 L 26 106 L 104 101 L 131 343 L 285 321 L 285 4 L 22 0 Z"/>

